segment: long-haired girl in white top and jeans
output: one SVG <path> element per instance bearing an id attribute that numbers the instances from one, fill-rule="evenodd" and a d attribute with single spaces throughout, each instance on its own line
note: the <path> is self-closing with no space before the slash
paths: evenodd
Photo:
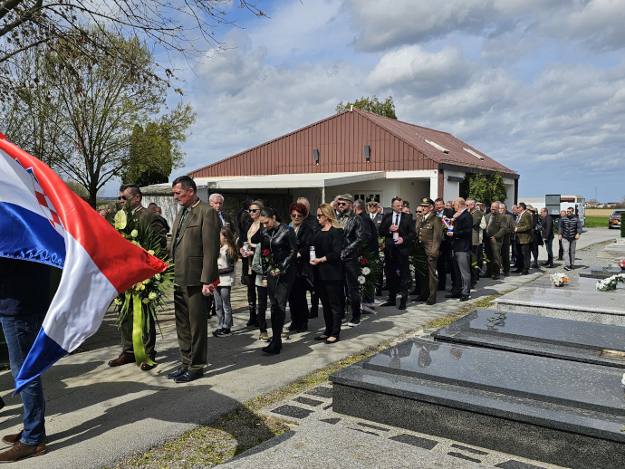
<path id="1" fill-rule="evenodd" d="M 235 237 L 229 228 L 222 228 L 219 233 L 221 248 L 219 249 L 219 285 L 215 292 L 215 306 L 217 313 L 217 329 L 215 337 L 227 337 L 232 328 L 232 307 L 230 306 L 230 288 L 236 282 L 236 261 L 239 254 L 235 244 Z"/>

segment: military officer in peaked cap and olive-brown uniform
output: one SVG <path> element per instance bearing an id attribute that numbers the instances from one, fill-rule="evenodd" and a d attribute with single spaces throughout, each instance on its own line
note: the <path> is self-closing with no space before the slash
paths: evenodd
<path id="1" fill-rule="evenodd" d="M 434 202 L 428 197 L 421 199 L 421 210 L 423 215 L 417 217 L 417 238 L 418 242 L 426 252 L 428 259 L 428 272 L 419 273 L 421 293 L 413 301 L 426 302 L 432 305 L 437 302 L 437 258 L 440 242 L 443 238 L 443 225 L 438 216 L 434 213 Z"/>

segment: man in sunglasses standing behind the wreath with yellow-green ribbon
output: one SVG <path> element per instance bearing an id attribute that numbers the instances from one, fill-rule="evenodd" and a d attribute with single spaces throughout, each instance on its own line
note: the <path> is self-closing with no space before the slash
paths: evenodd
<path id="1" fill-rule="evenodd" d="M 160 248 L 164 251 L 167 248 L 167 228 L 165 219 L 142 206 L 142 199 L 143 195 L 141 194 L 139 186 L 124 184 L 120 187 L 120 205 L 130 205 L 135 223 L 149 229 L 153 234 L 159 236 Z M 156 324 L 151 315 L 149 315 L 148 321 L 148 332 L 147 335 L 143 337 L 143 346 L 146 349 L 146 355 L 150 360 L 154 361 L 156 357 L 156 350 L 154 349 L 156 345 Z M 132 346 L 132 321 L 130 321 L 128 314 L 123 321 L 121 321 L 120 330 L 121 353 L 117 359 L 111 359 L 111 361 L 109 361 L 110 367 L 119 367 L 120 365 L 135 362 L 135 352 Z M 149 365 L 147 362 L 144 362 L 141 363 L 140 369 L 148 371 L 155 367 L 156 364 Z"/>

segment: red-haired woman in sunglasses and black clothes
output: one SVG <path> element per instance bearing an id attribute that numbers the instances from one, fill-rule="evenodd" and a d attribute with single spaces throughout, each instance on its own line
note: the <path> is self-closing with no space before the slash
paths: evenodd
<path id="1" fill-rule="evenodd" d="M 295 280 L 289 295 L 289 310 L 291 311 L 291 324 L 289 330 L 305 332 L 308 330 L 308 302 L 306 301 L 307 282 L 310 277 L 311 243 L 314 232 L 309 225 L 303 223 L 308 216 L 308 208 L 303 204 L 291 204 L 289 206 L 291 223 L 297 236 L 297 260 L 295 262 Z"/>

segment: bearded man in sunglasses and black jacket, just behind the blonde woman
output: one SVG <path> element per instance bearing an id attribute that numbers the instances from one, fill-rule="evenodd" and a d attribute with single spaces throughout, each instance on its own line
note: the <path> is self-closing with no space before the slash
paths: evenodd
<path id="1" fill-rule="evenodd" d="M 340 213 L 338 222 L 343 227 L 341 263 L 343 280 L 351 303 L 351 321 L 347 323 L 350 327 L 356 327 L 361 323 L 361 284 L 358 282 L 361 264 L 358 262 L 358 248 L 365 242 L 362 219 L 351 211 L 353 200 L 349 194 L 336 197 L 336 207 Z"/>

